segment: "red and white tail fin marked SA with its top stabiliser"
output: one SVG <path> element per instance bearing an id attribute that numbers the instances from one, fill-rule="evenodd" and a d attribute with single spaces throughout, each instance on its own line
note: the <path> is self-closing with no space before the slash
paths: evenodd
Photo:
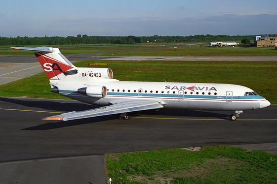
<path id="1" fill-rule="evenodd" d="M 10 47 L 12 49 L 21 49 L 21 50 L 31 50 L 39 51 L 35 55 L 40 61 L 44 72 L 47 77 L 52 80 L 59 80 L 58 75 L 68 71 L 75 66 L 66 59 L 58 48 L 52 47 L 36 47 L 36 48 L 27 48 L 27 47 Z"/>

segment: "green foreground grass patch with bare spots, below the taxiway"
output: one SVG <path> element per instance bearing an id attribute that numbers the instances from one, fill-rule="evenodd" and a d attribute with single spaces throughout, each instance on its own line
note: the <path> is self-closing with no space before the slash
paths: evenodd
<path id="1" fill-rule="evenodd" d="M 230 146 L 105 154 L 113 184 L 276 184 L 277 155 Z"/>

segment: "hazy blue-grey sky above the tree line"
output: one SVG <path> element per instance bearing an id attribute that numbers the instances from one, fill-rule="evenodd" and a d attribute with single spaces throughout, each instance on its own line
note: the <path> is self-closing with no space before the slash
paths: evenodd
<path id="1" fill-rule="evenodd" d="M 277 34 L 276 0 L 2 0 L 0 37 Z"/>

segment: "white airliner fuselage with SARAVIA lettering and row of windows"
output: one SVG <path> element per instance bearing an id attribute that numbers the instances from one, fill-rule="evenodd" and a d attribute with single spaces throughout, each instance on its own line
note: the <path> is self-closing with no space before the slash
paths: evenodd
<path id="1" fill-rule="evenodd" d="M 251 89 L 231 84 L 112 80 L 110 82 L 96 82 L 93 85 L 105 86 L 107 95 L 103 98 L 93 98 L 80 94 L 77 90 L 83 86 L 77 86 L 76 91 L 58 88 L 62 95 L 101 106 L 128 100 L 153 100 L 161 103 L 164 108 L 234 111 L 259 109 L 268 106 L 269 103 Z"/>

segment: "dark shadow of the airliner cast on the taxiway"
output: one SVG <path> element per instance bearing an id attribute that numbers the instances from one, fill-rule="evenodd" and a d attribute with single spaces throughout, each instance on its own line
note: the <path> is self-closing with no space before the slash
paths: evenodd
<path id="1" fill-rule="evenodd" d="M 57 101 L 47 101 L 47 100 L 40 100 L 40 99 L 30 99 L 28 98 L 5 98 L 0 97 L 0 101 L 5 101 L 9 103 L 19 104 L 25 107 L 34 107 L 34 108 L 42 108 L 45 110 L 51 111 L 59 111 L 59 112 L 71 112 L 71 111 L 84 111 L 89 109 L 98 108 L 98 106 L 89 105 L 80 102 L 69 101 L 65 102 L 65 100 L 59 102 Z M 156 116 L 164 116 L 164 118 L 168 118 L 167 116 L 172 116 L 174 118 L 218 118 L 223 120 L 229 120 L 228 114 L 226 112 L 210 112 L 210 111 L 195 111 L 195 110 L 185 110 L 185 109 L 159 109 L 159 110 L 147 110 L 141 112 L 134 112 L 132 116 L 139 117 L 143 115 L 156 115 Z M 101 117 L 93 117 L 93 118 L 86 118 L 80 120 L 71 120 L 71 121 L 53 121 L 51 123 L 43 123 L 37 126 L 32 126 L 28 128 L 24 128 L 22 130 L 48 130 L 48 129 L 55 129 L 55 128 L 62 128 L 67 126 L 75 126 L 80 124 L 86 123 L 97 123 L 97 122 L 104 122 L 109 120 L 117 119 L 117 115 L 110 115 L 110 116 L 101 116 Z"/>

